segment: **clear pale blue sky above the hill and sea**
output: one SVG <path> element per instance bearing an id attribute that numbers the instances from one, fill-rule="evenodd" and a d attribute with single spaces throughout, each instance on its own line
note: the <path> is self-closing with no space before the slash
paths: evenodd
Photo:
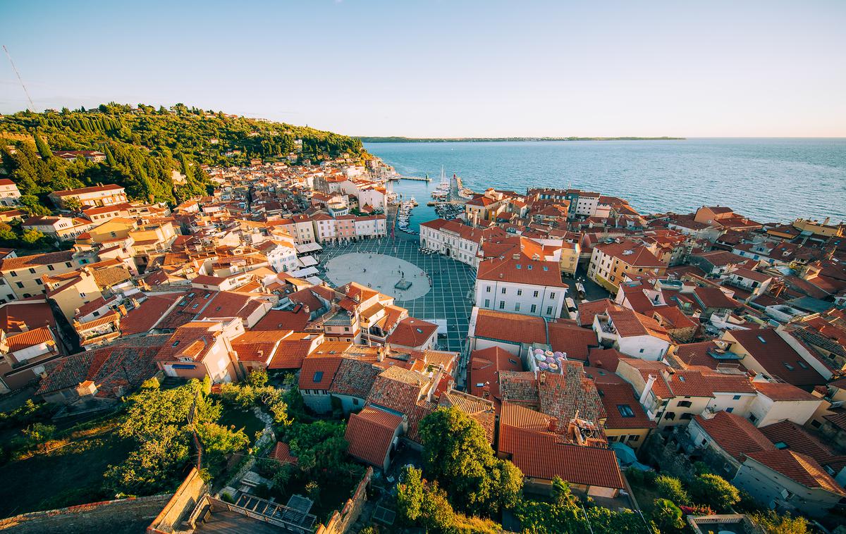
<path id="1" fill-rule="evenodd" d="M 0 0 L 41 110 L 343 134 L 846 137 L 846 1 Z M 27 106 L 6 57 L 0 112 Z"/>

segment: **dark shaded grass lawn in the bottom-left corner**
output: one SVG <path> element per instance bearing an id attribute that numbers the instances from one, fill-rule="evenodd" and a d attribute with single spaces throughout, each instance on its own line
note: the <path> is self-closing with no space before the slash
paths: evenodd
<path id="1" fill-rule="evenodd" d="M 0 517 L 114 499 L 103 473 L 129 455 L 132 444 L 113 433 L 0 466 Z"/>

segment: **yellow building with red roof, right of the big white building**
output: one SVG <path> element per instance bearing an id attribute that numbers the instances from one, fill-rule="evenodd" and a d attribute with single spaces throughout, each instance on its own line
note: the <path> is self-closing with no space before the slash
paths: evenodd
<path id="1" fill-rule="evenodd" d="M 657 259 L 641 243 L 622 241 L 596 245 L 591 253 L 587 277 L 609 292 L 617 293 L 625 275 L 630 278 L 651 275 L 663 276 L 667 264 Z"/>

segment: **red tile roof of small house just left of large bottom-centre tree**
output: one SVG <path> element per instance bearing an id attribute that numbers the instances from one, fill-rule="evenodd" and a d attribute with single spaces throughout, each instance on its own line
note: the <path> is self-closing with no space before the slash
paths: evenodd
<path id="1" fill-rule="evenodd" d="M 393 436 L 403 418 L 387 411 L 366 406 L 349 416 L 344 439 L 349 443 L 349 455 L 373 466 L 382 467 L 391 448 Z"/>

